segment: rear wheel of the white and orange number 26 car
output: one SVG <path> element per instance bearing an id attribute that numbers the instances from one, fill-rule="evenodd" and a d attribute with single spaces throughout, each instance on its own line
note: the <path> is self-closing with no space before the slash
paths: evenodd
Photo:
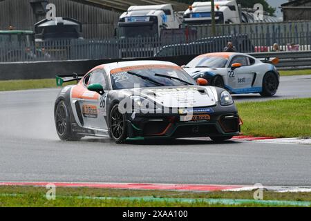
<path id="1" fill-rule="evenodd" d="M 64 100 L 60 101 L 55 109 L 55 126 L 60 140 L 79 141 L 83 137 L 72 131 L 70 111 Z"/>

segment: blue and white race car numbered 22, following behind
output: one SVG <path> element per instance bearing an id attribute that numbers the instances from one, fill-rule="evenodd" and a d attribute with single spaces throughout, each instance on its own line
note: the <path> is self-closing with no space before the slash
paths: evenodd
<path id="1" fill-rule="evenodd" d="M 273 65 L 278 61 L 278 58 L 260 60 L 237 52 L 216 52 L 199 55 L 184 69 L 194 79 L 207 79 L 209 85 L 225 88 L 232 94 L 273 96 L 279 88 L 280 75 Z"/>

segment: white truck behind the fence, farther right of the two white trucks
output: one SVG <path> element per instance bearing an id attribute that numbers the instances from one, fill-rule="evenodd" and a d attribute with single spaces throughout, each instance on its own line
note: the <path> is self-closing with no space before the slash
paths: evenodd
<path id="1" fill-rule="evenodd" d="M 255 22 L 277 22 L 276 17 L 271 17 L 264 12 L 263 19 L 254 19 L 256 10 L 241 8 L 241 5 L 232 1 L 215 1 L 215 23 L 255 23 Z M 183 15 L 183 25 L 211 24 L 211 2 L 194 2 Z"/>

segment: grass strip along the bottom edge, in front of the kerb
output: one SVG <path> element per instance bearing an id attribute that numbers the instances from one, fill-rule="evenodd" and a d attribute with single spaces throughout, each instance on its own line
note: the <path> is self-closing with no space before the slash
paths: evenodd
<path id="1" fill-rule="evenodd" d="M 224 204 L 209 204 L 207 202 L 148 202 L 145 200 L 107 200 L 87 199 L 84 197 L 153 197 L 153 198 L 189 198 L 189 199 L 249 199 L 253 200 L 252 191 L 242 192 L 187 192 L 187 191 L 130 191 L 120 189 L 89 189 L 61 188 L 56 189 L 56 200 L 46 200 L 47 189 L 43 187 L 1 186 L 0 206 L 227 206 Z M 263 200 L 311 201 L 310 193 L 275 193 L 264 191 Z M 264 206 L 263 204 L 247 203 L 243 206 Z"/>

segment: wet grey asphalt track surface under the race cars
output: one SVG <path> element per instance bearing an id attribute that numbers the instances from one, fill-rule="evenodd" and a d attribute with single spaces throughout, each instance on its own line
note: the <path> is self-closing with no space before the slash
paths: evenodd
<path id="1" fill-rule="evenodd" d="M 57 92 L 0 93 L 0 181 L 311 186 L 310 145 L 208 139 L 62 142 L 53 122 Z M 311 77 L 282 78 L 276 97 L 311 97 Z M 257 95 L 236 100 L 249 99 L 262 100 Z"/>

